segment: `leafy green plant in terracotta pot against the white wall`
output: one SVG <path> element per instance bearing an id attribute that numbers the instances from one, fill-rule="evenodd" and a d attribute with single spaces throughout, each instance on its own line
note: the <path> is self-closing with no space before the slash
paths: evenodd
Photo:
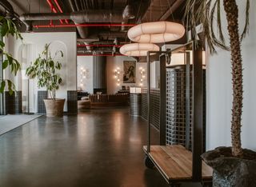
<path id="1" fill-rule="evenodd" d="M 46 105 L 47 117 L 62 117 L 65 99 L 56 98 L 56 90 L 62 83 L 62 78 L 58 74 L 62 64 L 55 61 L 55 58 L 60 54 L 63 58 L 61 50 L 56 51 L 52 58 L 49 50 L 50 44 L 45 45 L 45 49 L 39 57 L 36 58 L 26 69 L 26 75 L 30 78 L 38 78 L 38 88 L 46 87 L 50 98 L 44 99 Z"/>

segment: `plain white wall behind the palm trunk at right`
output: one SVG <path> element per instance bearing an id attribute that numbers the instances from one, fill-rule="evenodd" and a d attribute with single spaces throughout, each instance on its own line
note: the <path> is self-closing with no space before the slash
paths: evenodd
<path id="1" fill-rule="evenodd" d="M 239 6 L 240 30 L 244 26 L 245 2 L 237 1 Z M 244 74 L 244 106 L 242 113 L 242 147 L 256 150 L 256 22 L 255 1 L 250 2 L 250 34 L 242 42 L 242 60 Z M 223 11 L 222 11 L 223 14 Z M 223 14 L 223 19 L 226 18 Z M 226 21 L 222 22 L 226 28 Z M 228 37 L 226 36 L 228 39 Z M 230 52 L 218 51 L 218 55 L 209 57 L 206 71 L 207 85 L 207 149 L 219 145 L 230 145 L 231 120 L 231 74 Z"/>

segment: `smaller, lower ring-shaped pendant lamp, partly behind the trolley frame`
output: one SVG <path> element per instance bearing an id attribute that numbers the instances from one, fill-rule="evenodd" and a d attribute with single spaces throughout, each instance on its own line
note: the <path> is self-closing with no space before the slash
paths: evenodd
<path id="1" fill-rule="evenodd" d="M 130 43 L 122 46 L 119 52 L 126 56 L 141 57 L 146 56 L 148 51 L 159 50 L 159 46 L 153 43 Z"/>

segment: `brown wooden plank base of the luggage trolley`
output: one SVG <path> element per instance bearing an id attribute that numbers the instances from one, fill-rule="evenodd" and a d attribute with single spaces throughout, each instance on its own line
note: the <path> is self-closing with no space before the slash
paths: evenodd
<path id="1" fill-rule="evenodd" d="M 143 146 L 146 153 L 146 145 Z M 169 184 L 192 181 L 192 153 L 182 145 L 151 145 L 147 153 Z M 212 180 L 213 169 L 202 161 L 202 181 Z"/>

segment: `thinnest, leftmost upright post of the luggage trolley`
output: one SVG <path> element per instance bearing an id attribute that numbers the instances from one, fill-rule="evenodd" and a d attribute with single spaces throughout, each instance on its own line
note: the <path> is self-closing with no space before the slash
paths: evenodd
<path id="1" fill-rule="evenodd" d="M 150 153 L 150 135 L 151 135 L 151 127 L 150 127 L 150 51 L 147 52 L 146 56 L 147 61 L 147 153 Z"/>

